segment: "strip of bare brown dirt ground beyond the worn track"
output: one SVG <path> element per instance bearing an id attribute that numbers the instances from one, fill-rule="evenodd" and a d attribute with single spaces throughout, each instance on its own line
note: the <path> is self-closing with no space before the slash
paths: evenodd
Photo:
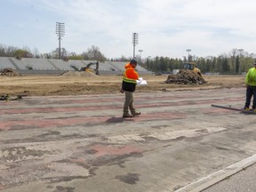
<path id="1" fill-rule="evenodd" d="M 244 76 L 204 76 L 206 84 L 165 84 L 167 75 L 142 76 L 148 85 L 136 92 L 172 92 L 244 86 Z M 0 76 L 0 95 L 82 95 L 120 91 L 122 76 Z"/>

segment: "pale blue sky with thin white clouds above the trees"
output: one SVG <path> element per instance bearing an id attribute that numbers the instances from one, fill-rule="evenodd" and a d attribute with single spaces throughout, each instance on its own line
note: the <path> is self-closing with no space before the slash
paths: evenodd
<path id="1" fill-rule="evenodd" d="M 1 0 L 0 44 L 59 47 L 56 22 L 65 23 L 61 47 L 80 54 L 92 45 L 107 58 L 132 57 L 132 33 L 142 58 L 218 56 L 256 52 L 253 0 Z"/>

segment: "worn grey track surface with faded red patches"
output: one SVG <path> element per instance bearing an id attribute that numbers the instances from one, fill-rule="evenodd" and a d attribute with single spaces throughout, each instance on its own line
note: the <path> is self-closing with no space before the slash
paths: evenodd
<path id="1" fill-rule="evenodd" d="M 256 154 L 256 116 L 211 107 L 241 108 L 244 94 L 135 93 L 141 115 L 126 119 L 122 93 L 1 100 L 0 190 L 203 190 Z"/>

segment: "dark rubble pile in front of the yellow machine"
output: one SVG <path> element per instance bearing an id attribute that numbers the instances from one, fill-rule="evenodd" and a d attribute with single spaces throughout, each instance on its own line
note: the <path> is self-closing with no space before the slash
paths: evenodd
<path id="1" fill-rule="evenodd" d="M 180 69 L 179 73 L 168 76 L 165 84 L 206 84 L 206 81 L 193 70 Z"/>

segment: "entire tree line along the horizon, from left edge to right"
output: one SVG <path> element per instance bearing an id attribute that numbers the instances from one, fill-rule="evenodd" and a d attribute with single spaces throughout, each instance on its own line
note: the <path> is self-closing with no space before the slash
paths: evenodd
<path id="1" fill-rule="evenodd" d="M 63 60 L 99 60 L 99 61 L 129 61 L 131 58 L 121 56 L 120 58 L 108 59 L 100 52 L 100 48 L 92 45 L 87 51 L 77 54 L 76 52 L 68 52 L 65 48 L 61 48 L 61 59 Z M 28 47 L 23 49 L 6 46 L 0 44 L 0 57 L 16 57 L 21 58 L 44 58 L 44 59 L 60 59 L 59 48 L 49 53 L 39 53 L 37 49 L 33 52 Z M 190 55 L 191 57 L 191 55 Z M 141 60 L 137 56 L 140 65 L 150 71 L 156 73 L 172 73 L 173 69 L 182 68 L 182 63 L 188 61 L 186 57 L 183 59 L 157 56 L 155 58 L 147 58 Z M 202 73 L 220 73 L 220 74 L 241 74 L 252 68 L 254 53 L 241 51 L 241 49 L 233 49 L 231 52 L 220 54 L 219 56 L 196 57 L 192 56 L 192 61 L 196 63 L 196 67 Z"/>

